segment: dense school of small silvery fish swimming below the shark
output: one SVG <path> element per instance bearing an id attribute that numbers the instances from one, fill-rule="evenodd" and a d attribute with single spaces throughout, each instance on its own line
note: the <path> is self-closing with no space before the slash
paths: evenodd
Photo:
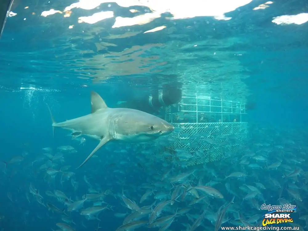
<path id="1" fill-rule="evenodd" d="M 196 153 L 168 152 L 173 139 L 170 135 L 150 143 L 106 145 L 93 156 L 95 163 L 82 170 L 75 170 L 74 158 L 88 152 L 88 144 L 79 145 L 84 138 L 57 148 L 41 147 L 39 154 L 29 147 L 22 155 L 7 153 L 0 175 L 7 198 L 2 200 L 24 227 L 48 220 L 54 226 L 45 230 L 54 231 L 261 226 L 264 203 L 297 205 L 294 222 L 286 225 L 307 230 L 304 128 L 251 125 L 246 139 L 230 139 L 238 149 L 227 159 L 193 166 L 183 158 Z M 207 142 L 222 148 L 214 140 Z M 0 227 L 7 219 L 3 215 Z M 111 218 L 114 227 L 106 228 Z"/>

